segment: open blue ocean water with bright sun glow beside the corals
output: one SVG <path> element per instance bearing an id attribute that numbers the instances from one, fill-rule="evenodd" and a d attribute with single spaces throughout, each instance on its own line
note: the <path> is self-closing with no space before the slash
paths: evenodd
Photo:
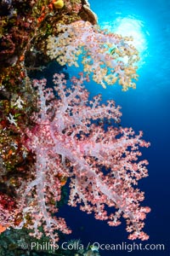
<path id="1" fill-rule="evenodd" d="M 92 96 L 101 93 L 104 101 L 114 99 L 122 106 L 122 126 L 144 131 L 144 139 L 151 143 L 144 149 L 143 158 L 149 160 L 149 177 L 139 182 L 145 192 L 144 206 L 151 207 L 144 230 L 150 240 L 163 244 L 165 250 L 99 250 L 100 255 L 170 255 L 170 0 L 91 0 L 91 9 L 99 17 L 99 25 L 112 32 L 133 35 L 139 49 L 139 81 L 136 90 L 122 92 L 115 85 L 106 90 L 98 84 L 88 86 Z M 99 244 L 127 243 L 125 224 L 116 228 L 94 219 L 94 216 L 67 208 L 63 213 L 73 230 L 71 238 Z M 65 212 L 65 209 L 63 209 Z M 140 243 L 140 241 L 136 241 Z M 128 252 L 127 252 L 128 251 Z"/>

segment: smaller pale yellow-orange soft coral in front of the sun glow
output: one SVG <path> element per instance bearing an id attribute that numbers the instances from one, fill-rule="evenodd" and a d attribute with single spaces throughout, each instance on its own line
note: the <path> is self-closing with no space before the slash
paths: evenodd
<path id="1" fill-rule="evenodd" d="M 88 21 L 78 20 L 70 25 L 59 25 L 58 36 L 48 38 L 48 55 L 59 61 L 78 67 L 82 56 L 83 69 L 91 73 L 95 82 L 106 88 L 106 84 L 122 85 L 122 90 L 135 88 L 137 80 L 137 49 L 130 44 L 132 38 L 102 31 Z"/>

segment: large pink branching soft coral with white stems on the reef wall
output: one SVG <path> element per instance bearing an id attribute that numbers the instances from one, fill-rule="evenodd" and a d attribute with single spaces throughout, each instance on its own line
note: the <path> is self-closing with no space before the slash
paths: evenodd
<path id="1" fill-rule="evenodd" d="M 88 102 L 88 91 L 82 86 L 84 78 L 71 79 L 71 88 L 66 89 L 64 75 L 54 75 L 54 97 L 52 89 L 45 89 L 46 81 L 34 80 L 37 87 L 39 112 L 34 113 L 36 123 L 27 130 L 26 147 L 35 154 L 36 164 L 32 168 L 32 179 L 23 183 L 20 193 L 23 221 L 34 230 L 34 236 L 46 234 L 58 240 L 54 230 L 70 233 L 65 220 L 52 217 L 56 211 L 54 201 L 60 199 L 60 177 L 71 178 L 69 205 L 81 205 L 82 211 L 94 212 L 95 218 L 105 219 L 110 225 L 120 224 L 120 217 L 127 220 L 130 239 L 148 239 L 142 228 L 149 207 L 140 207 L 144 193 L 134 186 L 146 177 L 146 160 L 137 162 L 140 147 L 149 143 L 141 139 L 142 132 L 134 135 L 132 128 L 109 127 L 106 131 L 96 125 L 98 119 L 120 121 L 120 107 L 109 101 L 99 105 L 100 96 Z M 104 168 L 105 167 L 105 168 Z M 114 207 L 111 214 L 105 206 Z M 31 217 L 31 223 L 26 220 Z"/>

